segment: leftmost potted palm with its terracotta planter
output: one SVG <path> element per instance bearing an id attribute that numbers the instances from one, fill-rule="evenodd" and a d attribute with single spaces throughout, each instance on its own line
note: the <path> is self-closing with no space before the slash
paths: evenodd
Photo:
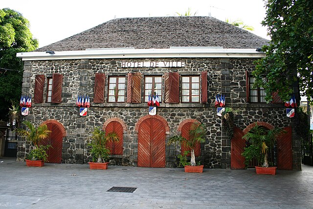
<path id="1" fill-rule="evenodd" d="M 27 141 L 30 141 L 32 145 L 32 149 L 25 158 L 26 165 L 36 167 L 44 166 L 48 157 L 46 150 L 51 147 L 51 145 L 40 145 L 40 142 L 47 139 L 51 131 L 48 130 L 46 124 L 42 124 L 37 128 L 29 121 L 24 121 L 23 124 L 27 129 L 19 129 L 18 133 L 22 137 L 25 137 Z"/>

